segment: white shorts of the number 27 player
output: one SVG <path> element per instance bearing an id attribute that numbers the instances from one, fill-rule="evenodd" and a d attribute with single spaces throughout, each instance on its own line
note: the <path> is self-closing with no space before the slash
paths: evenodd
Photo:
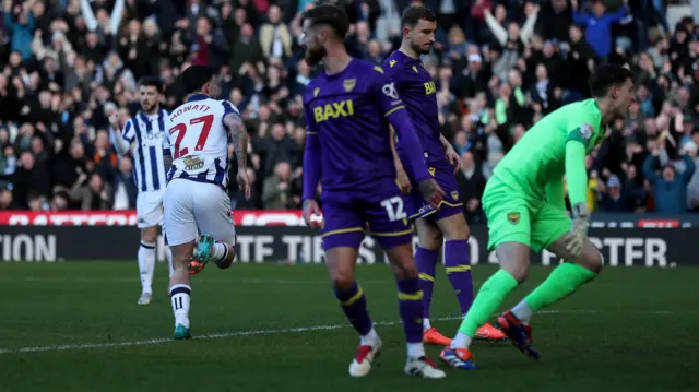
<path id="1" fill-rule="evenodd" d="M 203 233 L 235 246 L 230 198 L 221 187 L 175 179 L 167 185 L 164 204 L 168 246 L 191 242 Z"/>

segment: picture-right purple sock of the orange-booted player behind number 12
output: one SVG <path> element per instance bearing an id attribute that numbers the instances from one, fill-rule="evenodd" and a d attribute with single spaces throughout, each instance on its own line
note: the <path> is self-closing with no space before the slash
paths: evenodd
<path id="1" fill-rule="evenodd" d="M 467 240 L 453 240 L 445 243 L 445 266 L 449 282 L 457 293 L 461 314 L 465 314 L 473 304 L 471 250 Z"/>

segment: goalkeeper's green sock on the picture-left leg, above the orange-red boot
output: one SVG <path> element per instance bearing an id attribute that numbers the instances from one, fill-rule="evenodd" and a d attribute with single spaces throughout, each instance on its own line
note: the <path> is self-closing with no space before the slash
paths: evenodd
<path id="1" fill-rule="evenodd" d="M 459 333 L 451 341 L 452 348 L 469 348 L 471 340 L 481 325 L 485 324 L 495 313 L 505 297 L 517 287 L 514 276 L 505 270 L 499 270 L 490 276 L 478 290 L 471 309 L 459 326 Z"/>

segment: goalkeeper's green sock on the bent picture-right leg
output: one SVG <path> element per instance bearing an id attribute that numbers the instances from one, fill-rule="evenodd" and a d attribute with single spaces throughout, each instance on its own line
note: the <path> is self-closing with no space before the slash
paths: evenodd
<path id="1" fill-rule="evenodd" d="M 525 302 L 525 305 L 518 305 L 516 308 L 519 307 L 519 313 L 525 318 L 526 312 L 533 314 L 568 297 L 573 294 L 578 287 L 592 281 L 596 275 L 596 273 L 584 266 L 565 262 L 558 265 L 550 275 L 548 275 L 546 281 L 524 298 L 523 302 Z M 512 312 L 518 319 L 522 320 L 514 309 L 512 309 Z"/>

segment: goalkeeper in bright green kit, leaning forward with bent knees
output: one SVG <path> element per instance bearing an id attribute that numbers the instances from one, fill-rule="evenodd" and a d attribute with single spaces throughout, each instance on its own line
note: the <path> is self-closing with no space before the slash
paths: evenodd
<path id="1" fill-rule="evenodd" d="M 549 114 L 531 128 L 496 166 L 483 194 L 488 219 L 488 248 L 496 250 L 500 270 L 482 286 L 451 345 L 441 359 L 459 369 L 475 369 L 469 351 L 478 329 L 529 272 L 530 248 L 564 259 L 538 287 L 498 318 L 517 348 L 538 359 L 532 347 L 530 320 L 594 278 L 602 270 L 600 251 L 587 236 L 585 155 L 602 143 L 606 126 L 624 118 L 633 100 L 632 73 L 604 64 L 590 78 L 592 98 Z M 572 205 L 566 212 L 564 176 Z"/>

